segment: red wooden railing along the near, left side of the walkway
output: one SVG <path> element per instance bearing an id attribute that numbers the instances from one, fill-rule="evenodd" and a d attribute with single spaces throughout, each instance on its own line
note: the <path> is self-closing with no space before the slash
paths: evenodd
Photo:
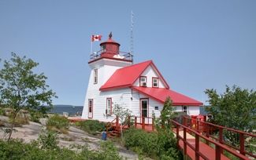
<path id="1" fill-rule="evenodd" d="M 224 144 L 221 144 L 215 140 L 210 139 L 210 137 L 204 136 L 201 133 L 198 133 L 195 129 L 191 129 L 190 127 L 186 126 L 186 121 L 185 125 L 181 125 L 179 122 L 176 122 L 172 120 L 173 125 L 176 125 L 176 138 L 177 138 L 177 147 L 179 147 L 179 141 L 182 140 L 184 144 L 184 157 L 187 155 L 187 146 L 191 147 L 193 151 L 195 151 L 195 159 L 198 160 L 200 157 L 203 159 L 210 159 L 207 158 L 200 150 L 199 150 L 199 138 L 206 140 L 207 143 L 211 143 L 215 145 L 215 159 L 221 159 L 221 151 L 228 151 L 230 154 L 234 155 L 236 158 L 240 159 L 247 159 L 245 155 L 242 155 L 238 153 L 237 151 L 225 146 Z M 179 131 L 180 127 L 183 128 L 183 137 L 180 136 Z M 187 133 L 193 133 L 195 134 L 195 147 L 187 142 Z"/>

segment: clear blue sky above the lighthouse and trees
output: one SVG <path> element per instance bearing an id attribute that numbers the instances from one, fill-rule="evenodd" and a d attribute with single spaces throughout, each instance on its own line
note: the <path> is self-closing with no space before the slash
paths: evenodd
<path id="1" fill-rule="evenodd" d="M 112 31 L 129 52 L 131 11 L 134 62 L 153 60 L 171 89 L 203 103 L 206 89 L 256 89 L 254 0 L 0 0 L 0 58 L 39 62 L 54 104 L 83 105 L 91 35 L 105 41 Z"/>

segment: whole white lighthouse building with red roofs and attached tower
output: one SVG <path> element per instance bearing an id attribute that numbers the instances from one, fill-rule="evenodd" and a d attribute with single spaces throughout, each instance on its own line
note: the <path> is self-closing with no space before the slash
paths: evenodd
<path id="1" fill-rule="evenodd" d="M 199 115 L 202 103 L 169 89 L 168 83 L 152 60 L 132 64 L 130 53 L 121 53 L 120 44 L 109 36 L 101 50 L 88 62 L 91 75 L 83 105 L 83 119 L 110 122 L 114 104 L 132 111 L 132 115 L 157 117 L 166 97 L 170 96 L 176 111 Z"/>

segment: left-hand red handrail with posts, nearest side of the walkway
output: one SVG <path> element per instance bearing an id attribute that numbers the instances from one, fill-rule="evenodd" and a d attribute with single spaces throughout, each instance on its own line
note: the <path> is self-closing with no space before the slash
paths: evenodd
<path id="1" fill-rule="evenodd" d="M 210 138 L 206 137 L 206 136 L 203 136 L 202 134 L 196 132 L 194 129 L 190 129 L 189 127 L 185 126 L 185 125 L 181 125 L 179 122 L 176 122 L 174 120 L 171 120 L 175 125 L 176 125 L 176 137 L 177 137 L 177 143 L 179 143 L 179 139 L 180 140 L 183 140 L 184 141 L 184 153 L 186 155 L 187 153 L 187 147 L 185 147 L 186 145 L 188 145 L 189 147 L 191 147 L 191 149 L 193 151 L 195 151 L 195 157 L 196 159 L 199 159 L 199 156 L 202 157 L 202 152 L 200 152 L 200 150 L 198 149 L 198 143 L 199 143 L 199 139 L 198 137 L 201 137 L 202 139 L 212 143 L 215 145 L 216 147 L 216 159 L 220 159 L 221 158 L 221 149 L 224 149 L 225 151 L 228 151 L 229 153 L 231 153 L 232 155 L 235 155 L 236 157 L 240 158 L 240 159 L 245 159 L 245 160 L 249 160 L 249 158 L 247 158 L 245 155 L 241 155 L 239 154 L 238 152 L 230 149 L 229 147 L 226 147 L 224 144 L 220 144 L 214 140 L 211 140 Z M 184 137 L 180 136 L 179 135 L 179 127 L 183 127 L 184 128 Z M 195 134 L 195 147 L 191 146 L 190 144 L 187 143 L 187 140 L 186 140 L 186 130 L 190 131 L 191 133 L 194 133 Z M 184 155 L 184 156 L 185 156 Z M 202 157 L 203 158 L 203 157 Z"/>

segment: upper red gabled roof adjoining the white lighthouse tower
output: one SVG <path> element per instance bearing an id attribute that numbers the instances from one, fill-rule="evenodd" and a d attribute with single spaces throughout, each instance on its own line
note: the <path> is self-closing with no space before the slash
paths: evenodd
<path id="1" fill-rule="evenodd" d="M 131 66 L 118 69 L 113 73 L 109 80 L 104 85 L 102 85 L 100 90 L 120 89 L 132 86 L 133 83 L 139 78 L 140 75 L 143 74 L 143 71 L 145 71 L 149 65 L 154 67 L 161 80 L 169 89 L 169 85 L 165 82 L 165 79 L 161 76 L 160 72 L 158 71 L 157 67 L 155 67 L 152 60 L 147 60 L 139 64 L 133 64 Z"/>

